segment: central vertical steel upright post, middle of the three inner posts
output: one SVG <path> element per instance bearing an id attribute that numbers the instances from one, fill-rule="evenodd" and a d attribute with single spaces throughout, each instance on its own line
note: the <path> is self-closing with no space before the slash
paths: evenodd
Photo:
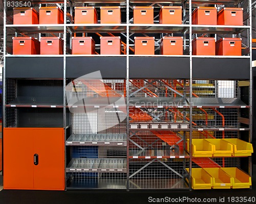
<path id="1" fill-rule="evenodd" d="M 129 191 L 129 0 L 126 0 L 126 190 Z"/>

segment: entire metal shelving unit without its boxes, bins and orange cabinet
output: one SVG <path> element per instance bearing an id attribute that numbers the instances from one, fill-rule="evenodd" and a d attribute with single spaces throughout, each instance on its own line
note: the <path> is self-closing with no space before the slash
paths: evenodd
<path id="1" fill-rule="evenodd" d="M 65 23 L 12 25 L 5 21 L 4 35 L 8 30 L 27 35 L 57 33 L 64 40 L 64 53 L 56 56 L 14 56 L 7 54 L 4 39 L 4 128 L 51 124 L 65 127 L 66 189 L 191 190 L 192 167 L 239 167 L 251 175 L 250 158 L 194 158 L 191 154 L 193 138 L 251 140 L 251 0 L 248 0 L 247 25 L 191 24 L 191 12 L 198 5 L 241 6 L 242 2 L 32 1 L 33 4 L 59 3 Z M 72 15 L 74 4 L 80 3 L 96 7 L 125 7 L 122 19 L 126 17 L 126 21 L 120 24 L 69 24 L 67 8 L 71 9 Z M 156 15 L 154 24 L 131 23 L 131 6 L 154 5 L 159 9 L 160 5 L 169 4 L 183 6 L 183 24 L 158 24 Z M 240 37 L 246 32 L 248 42 L 244 44 L 243 56 L 192 55 L 192 40 L 200 34 Z M 73 33 L 120 34 L 124 53 L 71 55 L 67 52 L 71 48 L 68 37 Z M 170 34 L 184 37 L 183 56 L 133 54 L 134 36 L 155 35 L 157 53 L 161 37 Z M 90 79 L 84 83 L 77 79 L 98 70 L 103 80 Z M 61 80 L 61 97 L 17 96 L 14 93 L 17 87 L 13 84 L 12 91 L 8 92 L 8 80 L 20 79 Z M 215 83 L 206 83 L 212 86 L 194 85 L 195 81 L 202 80 Z M 229 90 L 233 95 L 223 95 L 225 91 L 218 89 L 221 80 L 225 80 L 226 85 L 227 80 L 235 84 Z M 244 80 L 249 81 L 247 98 L 241 95 L 244 87 L 238 85 Z M 102 84 L 104 90 L 101 89 Z M 121 96 L 123 101 L 115 104 Z M 70 97 L 79 100 L 72 105 L 67 104 Z M 33 122 L 26 120 L 33 119 L 35 114 L 39 119 Z M 114 120 L 116 116 L 117 123 Z M 56 124 L 53 120 L 57 120 Z"/>

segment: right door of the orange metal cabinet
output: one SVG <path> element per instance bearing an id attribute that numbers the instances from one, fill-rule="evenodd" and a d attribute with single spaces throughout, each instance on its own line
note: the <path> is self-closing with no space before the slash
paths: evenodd
<path id="1" fill-rule="evenodd" d="M 34 188 L 64 190 L 63 128 L 34 128 L 33 135 L 33 155 L 38 155 L 38 165 L 34 165 Z"/>

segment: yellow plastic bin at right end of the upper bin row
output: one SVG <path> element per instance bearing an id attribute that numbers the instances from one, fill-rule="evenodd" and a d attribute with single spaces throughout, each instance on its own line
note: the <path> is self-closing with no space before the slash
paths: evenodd
<path id="1" fill-rule="evenodd" d="M 253 153 L 252 144 L 240 139 L 224 139 L 233 145 L 233 154 L 235 157 L 251 156 Z"/>

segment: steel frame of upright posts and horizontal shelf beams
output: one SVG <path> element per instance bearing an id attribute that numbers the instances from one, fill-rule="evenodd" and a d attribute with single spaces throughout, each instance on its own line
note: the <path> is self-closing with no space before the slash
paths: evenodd
<path id="1" fill-rule="evenodd" d="M 244 0 L 246 1 L 246 0 Z M 6 16 L 6 2 L 7 0 L 4 0 L 4 19 L 7 19 Z M 119 5 L 126 5 L 126 23 L 121 23 L 121 24 L 67 24 L 67 2 L 63 2 L 63 1 L 37 1 L 37 0 L 32 0 L 32 3 L 35 4 L 42 4 L 42 3 L 62 3 L 63 4 L 63 8 L 64 8 L 64 15 L 65 15 L 65 22 L 63 24 L 35 24 L 35 25 L 11 25 L 11 24 L 7 24 L 6 20 L 4 20 L 4 36 L 6 36 L 6 31 L 8 29 L 11 29 L 12 31 L 18 32 L 18 33 L 25 33 L 25 34 L 31 34 L 31 33 L 63 33 L 63 41 L 64 44 L 67 44 L 67 34 L 68 33 L 75 33 L 75 32 L 80 32 L 80 33 L 95 33 L 95 32 L 102 32 L 102 33 L 123 33 L 126 36 L 126 55 L 122 55 L 122 56 L 93 56 L 93 55 L 68 55 L 67 54 L 67 48 L 66 46 L 64 46 L 64 54 L 63 55 L 57 55 L 57 56 L 39 56 L 39 55 L 31 55 L 31 56 L 19 56 L 19 55 L 8 55 L 7 54 L 7 50 L 6 50 L 6 37 L 4 38 L 4 71 L 3 71 L 3 87 L 4 87 L 4 91 L 3 91 L 3 107 L 4 107 L 4 111 L 3 111 L 3 127 L 6 127 L 6 111 L 5 109 L 11 108 L 11 107 L 27 107 L 27 108 L 33 108 L 36 106 L 36 108 L 63 108 L 63 126 L 67 127 L 67 104 L 66 104 L 66 84 L 63 83 L 63 105 L 32 105 L 32 104 L 26 104 L 26 105 L 22 105 L 22 104 L 6 104 L 6 59 L 7 58 L 15 58 L 15 57 L 25 57 L 25 58 L 31 58 L 31 57 L 60 57 L 63 59 L 63 81 L 66 82 L 66 80 L 70 79 L 69 77 L 67 77 L 66 73 L 67 73 L 67 62 L 69 59 L 73 58 L 73 57 L 80 57 L 80 58 L 84 58 L 84 57 L 88 57 L 88 58 L 93 58 L 93 57 L 120 57 L 120 58 L 126 58 L 126 76 L 125 76 L 125 90 L 126 93 L 130 92 L 130 86 L 129 86 L 129 81 L 131 79 L 135 79 L 133 78 L 133 73 L 132 73 L 132 60 L 131 59 L 135 59 L 135 58 L 145 58 L 145 59 L 157 59 L 157 58 L 181 58 L 181 59 L 187 59 L 189 60 L 189 66 L 188 66 L 188 71 L 189 74 L 188 76 L 184 77 L 184 79 L 188 79 L 189 80 L 189 98 L 186 98 L 186 96 L 181 95 L 181 98 L 185 98 L 188 99 L 187 102 L 184 99 L 184 103 L 182 105 L 178 105 L 178 106 L 173 106 L 172 108 L 181 108 L 181 109 L 189 109 L 189 127 L 187 129 L 184 128 L 178 128 L 178 129 L 172 129 L 172 131 L 174 132 L 179 132 L 179 131 L 184 131 L 184 132 L 189 132 L 189 140 L 191 141 L 192 139 L 192 135 L 193 135 L 193 131 L 249 131 L 250 137 L 249 140 L 251 141 L 252 136 L 251 136 L 251 130 L 252 130 L 252 110 L 251 110 L 251 105 L 252 105 L 252 42 L 251 42 L 251 38 L 252 38 L 252 28 L 251 28 L 251 19 L 252 19 L 252 15 L 251 15 L 251 0 L 248 0 L 249 2 L 249 25 L 243 25 L 243 26 L 228 26 L 228 25 L 193 25 L 191 24 L 191 12 L 192 12 L 192 8 L 193 5 L 197 5 L 197 4 L 234 4 L 234 5 L 238 5 L 240 4 L 242 1 L 240 0 L 217 0 L 217 1 L 213 1 L 213 0 L 189 0 L 189 1 L 181 1 L 181 0 L 171 0 L 171 1 L 162 1 L 162 0 L 150 0 L 150 1 L 144 1 L 144 0 L 127 0 L 127 1 L 123 1 L 123 0 L 105 0 L 105 1 L 100 1 L 100 0 L 73 0 L 71 1 L 74 3 L 89 3 L 89 4 L 95 4 L 95 5 L 99 5 L 101 3 L 105 3 L 105 4 L 119 4 Z M 130 5 L 136 5 L 136 4 L 148 4 L 148 3 L 152 3 L 152 4 L 160 4 L 160 3 L 182 3 L 184 5 L 188 5 L 188 19 L 189 19 L 189 24 L 181 24 L 181 25 L 165 25 L 165 24 L 143 24 L 143 25 L 137 25 L 137 24 L 132 24 L 130 23 L 130 16 L 129 16 L 129 9 L 130 9 Z M 249 48 L 249 56 L 193 56 L 192 55 L 192 38 L 193 38 L 193 34 L 197 33 L 197 34 L 239 34 L 242 33 L 244 31 L 248 31 L 249 35 L 248 35 L 248 48 Z M 185 55 L 185 56 L 146 56 L 146 55 L 131 55 L 130 54 L 130 49 L 129 49 L 129 39 L 130 39 L 130 35 L 134 34 L 134 33 L 188 33 L 189 34 L 189 54 Z M 249 98 L 249 105 L 246 105 L 244 103 L 241 103 L 241 101 L 238 99 L 237 101 L 231 101 L 231 102 L 219 102 L 218 104 L 212 104 L 210 101 L 199 101 L 198 104 L 194 104 L 194 103 L 189 103 L 189 101 L 193 102 L 193 80 L 194 80 L 194 73 L 193 73 L 193 67 L 195 65 L 193 65 L 193 61 L 195 61 L 196 59 L 199 58 L 205 58 L 207 59 L 248 59 L 249 60 L 249 77 L 247 78 L 247 80 L 250 81 L 250 98 Z M 195 66 L 196 67 L 196 66 Z M 246 77 L 245 77 L 246 78 Z M 167 77 L 167 79 L 169 79 Z M 207 76 L 205 76 L 205 79 L 207 79 Z M 239 78 L 238 78 L 239 79 Z M 145 86 L 146 88 L 146 86 Z M 172 90 L 175 91 L 175 90 Z M 131 97 L 132 94 L 126 94 L 125 98 L 126 98 L 126 105 L 123 105 L 124 107 L 126 107 L 126 111 L 127 113 L 129 113 L 129 110 L 131 109 L 131 107 L 134 107 L 133 104 L 133 99 L 135 99 L 134 97 Z M 155 99 L 155 98 L 154 98 Z M 167 98 L 168 99 L 168 98 Z M 201 99 L 201 98 L 200 98 Z M 148 98 L 146 99 L 142 99 L 143 102 L 145 102 L 146 100 L 148 100 Z M 149 99 L 149 100 L 153 100 L 153 99 Z M 81 105 L 82 106 L 82 105 Z M 93 104 L 91 104 L 91 106 L 95 106 Z M 138 107 L 136 108 L 170 108 L 169 106 L 162 106 L 161 103 L 159 103 L 157 105 L 157 107 L 143 107 L 142 105 L 137 105 Z M 73 108 L 78 108 L 78 107 L 73 107 Z M 249 109 L 249 127 L 219 127 L 219 126 L 215 126 L 215 127 L 207 127 L 207 126 L 196 126 L 193 124 L 193 109 L 194 108 L 238 108 L 238 109 Z M 149 113 L 149 112 L 148 112 Z M 152 115 L 153 116 L 153 115 Z M 155 117 L 157 117 L 157 115 L 154 115 Z M 133 124 L 132 122 L 130 122 L 130 118 L 129 118 L 129 114 L 126 115 L 126 136 L 127 137 L 123 137 L 123 139 L 121 139 L 121 141 L 112 141 L 111 137 L 109 139 L 105 139 L 104 141 L 101 141 L 99 138 L 98 140 L 95 140 L 93 138 L 91 139 L 82 139 L 81 137 L 79 137 L 79 139 L 77 140 L 73 140 L 72 137 L 74 137 L 75 135 L 71 135 L 69 137 L 69 139 L 66 140 L 66 147 L 65 147 L 65 154 L 67 151 L 67 146 L 126 146 L 126 159 L 121 159 L 123 161 L 123 163 L 125 163 L 122 167 L 120 168 L 108 168 L 106 166 L 99 168 L 100 167 L 100 162 L 103 161 L 104 159 L 98 159 L 97 162 L 99 162 L 99 165 L 95 168 L 93 167 L 74 167 L 74 162 L 78 161 L 78 160 L 82 160 L 82 159 L 73 159 L 71 161 L 70 164 L 66 164 L 67 166 L 67 172 L 122 172 L 122 173 L 126 173 L 127 177 L 126 177 L 126 189 L 129 190 L 130 189 L 130 184 L 131 184 L 131 179 L 134 175 L 136 175 L 138 172 L 140 172 L 141 170 L 143 170 L 144 168 L 146 168 L 148 165 L 152 164 L 153 162 L 159 162 L 161 163 L 163 166 L 167 167 L 170 171 L 173 171 L 174 173 L 176 173 L 178 176 L 180 176 L 182 179 L 184 178 L 184 175 L 181 175 L 180 173 L 178 173 L 177 171 L 175 171 L 173 168 L 169 167 L 168 165 L 166 165 L 161 159 L 184 159 L 184 162 L 186 159 L 189 159 L 189 189 L 191 190 L 191 168 L 192 168 L 192 152 L 191 152 L 191 142 L 189 143 L 189 152 L 185 152 L 183 150 L 180 151 L 174 151 L 174 152 L 170 152 L 169 155 L 154 155 L 154 156 L 139 156 L 138 152 L 135 153 L 137 155 L 134 155 L 131 151 L 129 151 L 129 143 L 132 142 L 133 144 L 136 145 L 136 142 L 134 142 L 131 137 L 132 136 L 136 136 L 136 133 L 138 131 L 150 131 L 150 130 L 157 130 L 157 129 L 152 129 L 152 128 L 148 128 L 148 129 L 133 129 L 130 127 L 130 125 Z M 148 123 L 150 124 L 150 123 Z M 155 123 L 154 123 L 155 124 Z M 166 129 L 167 130 L 167 129 Z M 132 135 L 130 135 L 132 134 Z M 65 128 L 65 137 L 68 138 L 67 136 L 67 128 Z M 120 136 L 120 135 L 119 135 Z M 137 135 L 138 136 L 138 135 Z M 89 136 L 87 136 L 87 138 L 89 138 Z M 126 138 L 126 141 L 125 141 Z M 184 136 L 181 135 L 181 141 L 184 142 Z M 96 144 L 97 142 L 97 144 Z M 137 144 L 138 145 L 138 144 Z M 150 145 L 150 144 L 149 144 Z M 139 145 L 138 145 L 139 146 Z M 142 148 L 143 149 L 143 148 Z M 130 175 L 130 169 L 129 169 L 129 165 L 130 165 L 130 160 L 136 160 L 136 159 L 143 159 L 145 161 L 147 161 L 148 163 L 143 166 L 142 168 L 140 168 L 138 171 L 136 171 L 135 173 Z M 115 159 L 113 159 L 114 161 Z M 116 159 L 117 160 L 117 159 Z M 251 172 L 251 158 L 250 160 L 250 167 L 249 167 L 249 174 L 250 176 L 252 175 Z M 96 161 L 94 159 L 94 161 Z M 79 163 L 79 162 L 77 162 Z M 73 165 L 73 166 L 72 166 Z M 185 167 L 184 167 L 185 170 Z"/>

